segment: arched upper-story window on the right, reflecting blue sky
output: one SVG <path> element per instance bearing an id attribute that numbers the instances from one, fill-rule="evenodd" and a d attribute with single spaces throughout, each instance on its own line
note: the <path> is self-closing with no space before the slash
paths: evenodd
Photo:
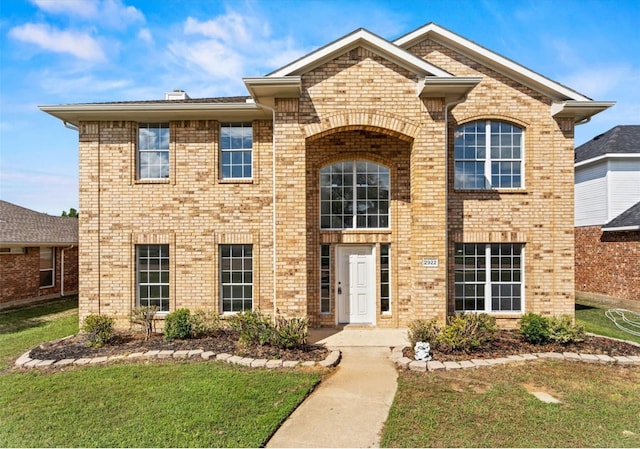
<path id="1" fill-rule="evenodd" d="M 455 188 L 523 187 L 522 135 L 522 128 L 493 120 L 458 126 L 454 143 Z"/>

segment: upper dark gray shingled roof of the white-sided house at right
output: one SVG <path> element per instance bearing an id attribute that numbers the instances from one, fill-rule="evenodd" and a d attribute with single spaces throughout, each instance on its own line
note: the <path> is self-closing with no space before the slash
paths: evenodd
<path id="1" fill-rule="evenodd" d="M 575 162 L 608 153 L 640 153 L 640 125 L 619 125 L 576 148 Z"/>

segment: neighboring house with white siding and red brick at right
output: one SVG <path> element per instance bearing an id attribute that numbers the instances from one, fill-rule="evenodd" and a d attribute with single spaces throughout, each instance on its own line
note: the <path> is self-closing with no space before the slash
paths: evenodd
<path id="1" fill-rule="evenodd" d="M 640 125 L 576 148 L 576 291 L 640 301 Z"/>

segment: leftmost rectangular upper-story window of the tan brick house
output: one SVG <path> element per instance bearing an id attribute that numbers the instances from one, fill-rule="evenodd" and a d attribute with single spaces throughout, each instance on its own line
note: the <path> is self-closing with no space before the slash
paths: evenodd
<path id="1" fill-rule="evenodd" d="M 138 179 L 169 178 L 169 124 L 138 125 Z"/>

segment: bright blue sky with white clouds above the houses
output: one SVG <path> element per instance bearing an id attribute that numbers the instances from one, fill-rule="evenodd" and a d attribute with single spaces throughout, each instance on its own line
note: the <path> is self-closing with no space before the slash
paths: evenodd
<path id="1" fill-rule="evenodd" d="M 395 39 L 435 22 L 617 105 L 579 145 L 640 124 L 637 0 L 0 0 L 0 199 L 78 208 L 78 135 L 38 105 L 246 95 L 261 76 L 347 33 Z"/>

